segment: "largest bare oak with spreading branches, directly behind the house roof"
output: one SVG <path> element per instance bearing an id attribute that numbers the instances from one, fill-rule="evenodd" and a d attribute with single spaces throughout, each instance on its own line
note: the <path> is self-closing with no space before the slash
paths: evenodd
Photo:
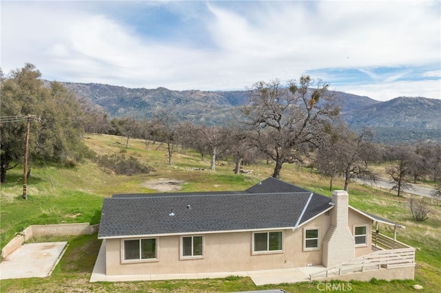
<path id="1" fill-rule="evenodd" d="M 318 145 L 324 122 L 338 116 L 327 88 L 320 80 L 301 76 L 286 85 L 260 81 L 249 89 L 249 103 L 240 107 L 241 122 L 252 130 L 254 146 L 276 162 L 273 177 L 280 177 L 284 163 L 300 160 L 305 144 Z"/>

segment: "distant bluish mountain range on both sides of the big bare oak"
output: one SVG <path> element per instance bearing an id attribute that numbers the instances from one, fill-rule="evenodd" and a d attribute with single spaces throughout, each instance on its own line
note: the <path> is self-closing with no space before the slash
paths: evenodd
<path id="1" fill-rule="evenodd" d="M 181 120 L 196 124 L 223 124 L 235 109 L 247 103 L 247 91 L 174 91 L 130 89 L 96 83 L 63 83 L 92 104 L 103 107 L 111 118 L 130 116 L 151 119 L 156 109 L 174 108 Z M 398 97 L 386 102 L 367 96 L 333 91 L 341 101 L 341 118 L 352 129 L 371 127 L 376 141 L 384 143 L 417 140 L 441 141 L 441 100 Z"/>

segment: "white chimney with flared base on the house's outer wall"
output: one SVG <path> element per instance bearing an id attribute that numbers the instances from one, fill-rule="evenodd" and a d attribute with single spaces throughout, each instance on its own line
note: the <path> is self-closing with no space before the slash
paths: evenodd
<path id="1" fill-rule="evenodd" d="M 322 263 L 329 268 L 355 257 L 355 240 L 348 227 L 349 195 L 346 191 L 332 193 L 331 225 L 323 239 Z"/>

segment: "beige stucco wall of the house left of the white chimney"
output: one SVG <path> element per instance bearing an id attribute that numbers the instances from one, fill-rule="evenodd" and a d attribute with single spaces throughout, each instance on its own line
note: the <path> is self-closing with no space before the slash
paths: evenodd
<path id="1" fill-rule="evenodd" d="M 253 232 L 205 234 L 201 259 L 181 259 L 180 237 L 158 237 L 158 261 L 122 263 L 121 239 L 106 239 L 106 274 L 171 274 L 177 272 L 235 272 L 295 268 L 321 263 L 320 250 L 303 251 L 303 229 L 320 229 L 320 246 L 329 226 L 322 215 L 294 231 L 283 230 L 283 251 L 253 254 Z"/>

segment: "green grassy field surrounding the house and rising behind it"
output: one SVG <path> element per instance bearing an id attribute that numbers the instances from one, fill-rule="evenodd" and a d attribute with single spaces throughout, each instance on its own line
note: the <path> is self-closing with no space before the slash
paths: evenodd
<path id="1" fill-rule="evenodd" d="M 1 186 L 0 231 L 1 247 L 16 232 L 30 224 L 59 224 L 68 222 L 99 223 L 104 197 L 114 193 L 154 193 L 143 183 L 158 178 L 182 180 L 183 191 L 245 190 L 258 181 L 271 176 L 274 165 L 245 166 L 249 175 L 234 175 L 232 162 L 218 162 L 216 171 L 209 169 L 209 161 L 190 150 L 179 149 L 174 153 L 172 166 L 168 165 L 165 145 L 150 143 L 145 150 L 142 140 L 130 140 L 125 148 L 125 138 L 112 135 L 90 135 L 84 139 L 96 153 L 121 153 L 133 156 L 156 169 L 155 172 L 121 176 L 100 169 L 92 162 L 74 168 L 59 169 L 54 166 L 32 168 L 28 180 L 28 199 L 21 199 L 23 171 L 14 169 L 8 173 L 8 182 Z M 329 182 L 310 169 L 285 164 L 281 179 L 312 191 L 331 195 Z M 342 188 L 343 182 L 334 182 Z M 374 190 L 369 186 L 349 185 L 350 204 L 368 213 L 386 217 L 406 226 L 398 230 L 398 240 L 416 248 L 416 279 L 414 281 L 351 282 L 353 292 L 414 292 L 412 285 L 420 284 L 423 292 L 439 292 L 441 284 L 441 206 L 431 206 L 431 217 L 422 223 L 413 221 L 407 198 L 398 198 L 389 191 Z M 388 226 L 380 226 L 380 232 L 392 235 Z M 122 283 L 88 283 L 101 241 L 96 235 L 64 237 L 69 242 L 63 259 L 46 279 L 16 279 L 1 281 L 1 292 L 233 292 L 264 290 L 278 287 L 287 292 L 320 292 L 316 283 L 297 283 L 255 286 L 249 278 L 230 276 L 227 279 L 194 281 L 149 281 Z"/>

